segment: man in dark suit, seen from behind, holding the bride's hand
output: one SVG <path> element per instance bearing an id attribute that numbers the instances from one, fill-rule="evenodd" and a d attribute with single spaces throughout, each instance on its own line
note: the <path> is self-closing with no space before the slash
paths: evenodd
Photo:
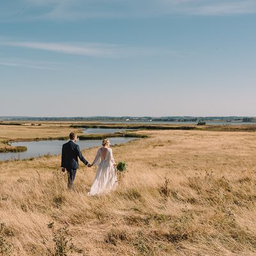
<path id="1" fill-rule="evenodd" d="M 79 166 L 78 157 L 86 166 L 91 167 L 92 165 L 86 161 L 79 149 L 79 145 L 75 143 L 77 141 L 77 134 L 71 132 L 69 138 L 70 140 L 62 146 L 61 171 L 65 172 L 65 170 L 67 170 L 68 188 L 71 189 L 74 187 L 74 179 Z"/>

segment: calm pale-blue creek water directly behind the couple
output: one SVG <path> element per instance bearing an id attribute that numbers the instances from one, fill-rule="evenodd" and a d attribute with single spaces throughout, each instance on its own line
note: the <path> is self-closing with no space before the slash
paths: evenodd
<path id="1" fill-rule="evenodd" d="M 109 138 L 112 145 L 125 143 L 134 138 Z M 30 157 L 44 156 L 47 154 L 59 155 L 61 154 L 62 145 L 66 141 L 61 140 L 46 140 L 46 141 L 24 141 L 24 142 L 15 142 L 11 143 L 12 146 L 26 146 L 28 150 L 26 152 L 19 153 L 1 153 L 0 161 L 9 160 L 9 159 L 26 159 Z M 91 148 L 91 147 L 101 147 L 102 140 L 82 140 L 77 141 L 80 149 Z M 95 150 L 96 154 L 96 150 Z M 85 156 L 86 158 L 86 156 Z"/>

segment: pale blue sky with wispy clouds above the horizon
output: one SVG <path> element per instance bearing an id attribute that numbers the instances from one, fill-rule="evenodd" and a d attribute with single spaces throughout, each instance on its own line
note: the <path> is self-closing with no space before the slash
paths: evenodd
<path id="1" fill-rule="evenodd" d="M 256 116 L 255 0 L 1 0 L 0 116 Z"/>

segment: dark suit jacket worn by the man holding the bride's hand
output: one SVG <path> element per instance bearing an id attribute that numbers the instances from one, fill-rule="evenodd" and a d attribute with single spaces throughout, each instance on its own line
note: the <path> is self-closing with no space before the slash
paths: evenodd
<path id="1" fill-rule="evenodd" d="M 61 154 L 61 167 L 66 168 L 67 170 L 75 170 L 79 167 L 79 159 L 85 164 L 88 164 L 88 161 L 83 157 L 79 145 L 70 140 L 62 146 Z"/>

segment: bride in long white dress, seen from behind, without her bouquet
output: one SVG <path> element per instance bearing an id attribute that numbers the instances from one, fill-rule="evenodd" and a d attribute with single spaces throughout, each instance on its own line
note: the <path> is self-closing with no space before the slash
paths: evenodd
<path id="1" fill-rule="evenodd" d="M 110 141 L 102 140 L 102 147 L 98 149 L 97 155 L 91 166 L 99 166 L 95 175 L 92 188 L 88 195 L 97 195 L 106 193 L 116 185 L 115 160 L 113 158 Z"/>

